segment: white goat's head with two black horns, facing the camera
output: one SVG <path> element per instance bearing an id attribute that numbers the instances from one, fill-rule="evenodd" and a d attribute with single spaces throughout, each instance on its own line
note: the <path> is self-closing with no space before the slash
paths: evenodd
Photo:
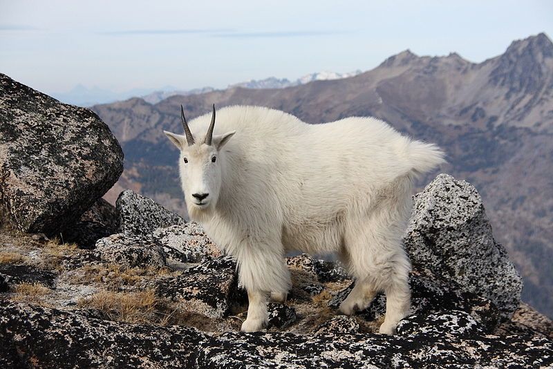
<path id="1" fill-rule="evenodd" d="M 203 140 L 194 139 L 180 106 L 180 117 L 185 135 L 164 131 L 169 140 L 180 150 L 180 179 L 189 214 L 214 207 L 217 203 L 222 181 L 223 158 L 221 148 L 234 135 L 235 131 L 224 135 L 213 135 L 215 125 L 215 105 L 211 124 Z"/>

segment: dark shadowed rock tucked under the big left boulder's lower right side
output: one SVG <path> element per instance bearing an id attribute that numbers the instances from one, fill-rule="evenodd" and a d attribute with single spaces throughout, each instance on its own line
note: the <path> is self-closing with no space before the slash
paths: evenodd
<path id="1" fill-rule="evenodd" d="M 113 205 L 100 198 L 90 209 L 62 232 L 64 241 L 77 243 L 81 249 L 93 249 L 100 238 L 118 233 L 119 218 Z"/>

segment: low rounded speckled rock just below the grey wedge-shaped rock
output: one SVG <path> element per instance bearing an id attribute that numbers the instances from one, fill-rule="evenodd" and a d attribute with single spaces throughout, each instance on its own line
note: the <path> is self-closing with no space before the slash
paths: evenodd
<path id="1" fill-rule="evenodd" d="M 164 267 L 163 247 L 151 236 L 113 234 L 97 241 L 95 255 L 121 267 Z"/>

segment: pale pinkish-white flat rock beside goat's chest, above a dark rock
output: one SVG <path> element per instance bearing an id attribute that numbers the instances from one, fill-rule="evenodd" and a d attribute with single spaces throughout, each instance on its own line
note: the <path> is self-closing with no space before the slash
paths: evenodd
<path id="1" fill-rule="evenodd" d="M 180 263 L 200 263 L 223 256 L 198 223 L 158 228 L 153 237 L 163 245 L 168 259 Z"/>

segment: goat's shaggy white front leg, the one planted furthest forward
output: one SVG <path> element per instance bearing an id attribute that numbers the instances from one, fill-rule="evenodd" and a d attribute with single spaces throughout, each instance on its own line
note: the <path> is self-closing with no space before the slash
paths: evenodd
<path id="1" fill-rule="evenodd" d="M 262 330 L 268 323 L 267 299 L 273 295 L 285 300 L 292 283 L 283 263 L 283 249 L 276 243 L 256 243 L 241 249 L 238 258 L 240 281 L 247 290 L 250 305 L 242 332 Z"/>

